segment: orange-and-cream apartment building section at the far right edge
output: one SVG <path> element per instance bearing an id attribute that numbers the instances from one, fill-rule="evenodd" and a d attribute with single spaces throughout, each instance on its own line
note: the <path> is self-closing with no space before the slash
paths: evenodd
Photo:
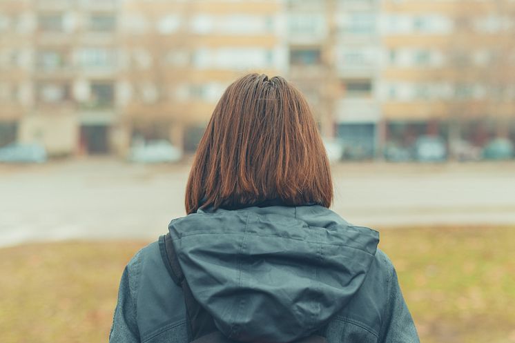
<path id="1" fill-rule="evenodd" d="M 387 145 L 433 135 L 452 154 L 463 142 L 515 141 L 514 1 L 383 0 L 381 12 Z"/>

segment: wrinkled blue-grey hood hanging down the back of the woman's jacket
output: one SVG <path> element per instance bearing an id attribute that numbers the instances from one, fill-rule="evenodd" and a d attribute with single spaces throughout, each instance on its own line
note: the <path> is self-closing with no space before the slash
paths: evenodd
<path id="1" fill-rule="evenodd" d="M 239 342 L 320 329 L 358 291 L 379 242 L 318 205 L 198 210 L 169 231 L 193 296 Z"/>

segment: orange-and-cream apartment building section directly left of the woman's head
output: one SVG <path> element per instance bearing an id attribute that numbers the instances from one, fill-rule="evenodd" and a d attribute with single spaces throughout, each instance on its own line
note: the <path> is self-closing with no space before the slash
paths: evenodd
<path id="1" fill-rule="evenodd" d="M 286 69 L 280 15 L 278 0 L 126 0 L 119 77 L 126 146 L 167 139 L 195 150 L 231 81 Z"/>

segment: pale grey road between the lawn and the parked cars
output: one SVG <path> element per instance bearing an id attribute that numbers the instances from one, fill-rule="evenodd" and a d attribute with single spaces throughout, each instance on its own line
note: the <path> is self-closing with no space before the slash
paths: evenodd
<path id="1" fill-rule="evenodd" d="M 189 165 L 115 159 L 0 164 L 0 246 L 58 239 L 154 239 L 184 215 Z M 338 164 L 333 210 L 376 229 L 515 224 L 515 163 Z"/>

